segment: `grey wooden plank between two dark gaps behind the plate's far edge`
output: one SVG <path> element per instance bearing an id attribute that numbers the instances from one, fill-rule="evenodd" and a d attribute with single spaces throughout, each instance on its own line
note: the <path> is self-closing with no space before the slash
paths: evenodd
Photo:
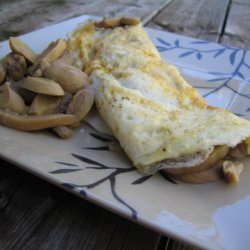
<path id="1" fill-rule="evenodd" d="M 149 26 L 217 42 L 228 3 L 229 0 L 175 0 Z"/>

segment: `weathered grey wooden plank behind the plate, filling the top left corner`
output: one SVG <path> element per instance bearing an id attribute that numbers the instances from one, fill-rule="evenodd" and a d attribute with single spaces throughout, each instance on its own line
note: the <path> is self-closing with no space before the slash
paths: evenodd
<path id="1" fill-rule="evenodd" d="M 83 14 L 136 15 L 147 22 L 169 2 L 170 0 L 3 1 L 0 8 L 0 41 Z"/>

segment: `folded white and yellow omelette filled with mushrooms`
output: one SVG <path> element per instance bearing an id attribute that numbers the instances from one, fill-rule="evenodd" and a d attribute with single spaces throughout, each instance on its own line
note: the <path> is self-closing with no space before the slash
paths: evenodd
<path id="1" fill-rule="evenodd" d="M 96 90 L 96 107 L 145 175 L 205 170 L 250 154 L 250 122 L 210 106 L 165 62 L 138 18 L 79 24 L 68 39 Z"/>

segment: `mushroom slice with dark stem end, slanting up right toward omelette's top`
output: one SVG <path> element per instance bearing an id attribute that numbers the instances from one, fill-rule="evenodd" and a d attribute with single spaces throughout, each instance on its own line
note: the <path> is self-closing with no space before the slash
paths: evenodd
<path id="1" fill-rule="evenodd" d="M 42 76 L 45 70 L 45 65 L 41 68 L 41 62 L 47 62 L 47 65 L 58 59 L 66 49 L 66 42 L 63 39 L 58 39 L 39 55 L 34 64 L 28 69 L 28 73 L 32 76 Z"/>

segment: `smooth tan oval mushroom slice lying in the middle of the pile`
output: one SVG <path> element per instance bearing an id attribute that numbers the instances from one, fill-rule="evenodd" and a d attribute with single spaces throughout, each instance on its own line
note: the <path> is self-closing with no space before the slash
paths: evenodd
<path id="1" fill-rule="evenodd" d="M 39 94 L 51 96 L 64 95 L 64 91 L 58 83 L 46 78 L 29 76 L 20 82 L 20 86 Z"/>

